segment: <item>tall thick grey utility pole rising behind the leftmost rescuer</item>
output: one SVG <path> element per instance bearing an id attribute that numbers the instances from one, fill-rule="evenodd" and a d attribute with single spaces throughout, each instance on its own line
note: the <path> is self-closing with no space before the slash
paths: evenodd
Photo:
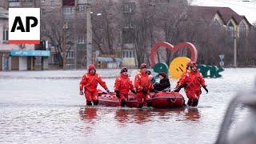
<path id="1" fill-rule="evenodd" d="M 92 63 L 92 26 L 91 26 L 91 0 L 86 0 L 86 66 Z"/>

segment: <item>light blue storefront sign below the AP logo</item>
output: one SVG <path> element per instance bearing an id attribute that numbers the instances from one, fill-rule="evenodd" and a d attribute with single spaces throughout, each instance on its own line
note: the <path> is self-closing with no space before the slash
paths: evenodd
<path id="1" fill-rule="evenodd" d="M 49 57 L 50 50 L 10 50 L 10 55 L 19 57 Z"/>

